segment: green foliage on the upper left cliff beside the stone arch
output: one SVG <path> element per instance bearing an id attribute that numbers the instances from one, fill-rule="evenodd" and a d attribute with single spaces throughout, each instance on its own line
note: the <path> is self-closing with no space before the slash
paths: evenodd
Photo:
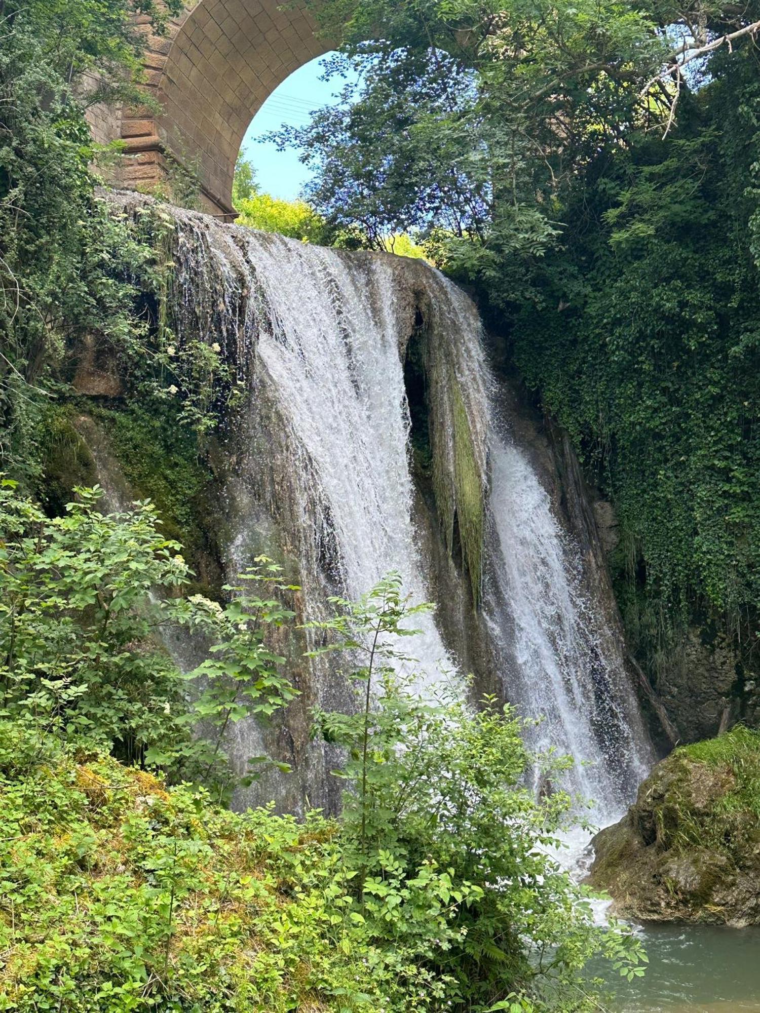
<path id="1" fill-rule="evenodd" d="M 172 0 L 168 9 L 176 9 Z M 85 331 L 124 345 L 140 333 L 112 264 L 144 251 L 95 197 L 88 104 L 134 98 L 140 42 L 131 15 L 152 0 L 0 5 L 0 411 L 4 456 L 33 460 L 45 373 Z M 31 463 L 29 466 L 32 466 Z M 7 467 L 7 465 L 6 465 Z"/>

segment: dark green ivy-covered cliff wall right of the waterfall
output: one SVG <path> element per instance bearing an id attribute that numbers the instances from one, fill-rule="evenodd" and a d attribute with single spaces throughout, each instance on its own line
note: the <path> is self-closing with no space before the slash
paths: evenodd
<path id="1" fill-rule="evenodd" d="M 597 166 L 513 317 L 514 363 L 615 504 L 628 637 L 684 737 L 754 719 L 758 68 L 754 48 L 715 59 L 673 136 Z M 710 693 L 702 727 L 688 710 Z"/>

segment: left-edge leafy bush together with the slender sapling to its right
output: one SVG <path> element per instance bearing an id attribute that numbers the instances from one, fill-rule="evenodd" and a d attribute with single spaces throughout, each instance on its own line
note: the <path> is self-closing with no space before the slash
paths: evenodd
<path id="1" fill-rule="evenodd" d="M 286 590 L 280 568 L 257 560 L 225 606 L 178 597 L 192 574 L 150 500 L 103 515 L 97 488 L 77 496 L 49 519 L 15 482 L 0 484 L 0 715 L 225 793 L 230 722 L 295 695 L 263 636 L 292 618 L 272 596 Z M 177 627 L 212 644 L 188 676 L 162 641 Z M 204 690 L 188 692 L 198 679 Z M 194 735 L 200 721 L 208 737 Z"/>

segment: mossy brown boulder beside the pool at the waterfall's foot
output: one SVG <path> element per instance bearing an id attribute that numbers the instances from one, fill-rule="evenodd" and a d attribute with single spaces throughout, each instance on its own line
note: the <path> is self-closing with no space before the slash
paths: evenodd
<path id="1" fill-rule="evenodd" d="M 618 915 L 760 924 L 760 732 L 676 750 L 594 848 L 591 883 Z"/>

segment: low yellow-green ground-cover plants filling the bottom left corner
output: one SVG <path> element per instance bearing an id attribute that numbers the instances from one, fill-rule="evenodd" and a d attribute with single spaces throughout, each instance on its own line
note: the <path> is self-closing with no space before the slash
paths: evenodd
<path id="1" fill-rule="evenodd" d="M 237 815 L 7 721 L 0 812 L 0 1009 L 382 1007 L 318 814 Z"/>

